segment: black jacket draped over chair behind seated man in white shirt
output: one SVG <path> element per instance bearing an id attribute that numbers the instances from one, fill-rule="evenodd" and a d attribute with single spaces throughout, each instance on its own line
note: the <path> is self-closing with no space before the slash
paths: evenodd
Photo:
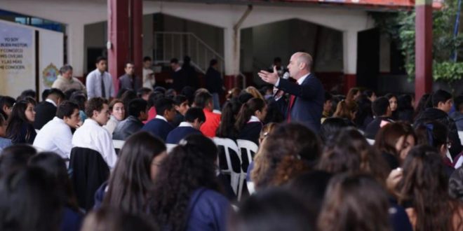
<path id="1" fill-rule="evenodd" d="M 109 178 L 109 167 L 98 151 L 74 147 L 69 169 L 72 169 L 71 181 L 79 207 L 89 211 L 95 204 L 96 190 Z"/>

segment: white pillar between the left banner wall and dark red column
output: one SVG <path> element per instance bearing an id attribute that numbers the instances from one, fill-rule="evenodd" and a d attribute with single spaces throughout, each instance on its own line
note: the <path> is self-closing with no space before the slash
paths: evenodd
<path id="1" fill-rule="evenodd" d="M 67 30 L 67 63 L 73 67 L 74 76 L 83 76 L 83 25 L 69 24 Z"/>

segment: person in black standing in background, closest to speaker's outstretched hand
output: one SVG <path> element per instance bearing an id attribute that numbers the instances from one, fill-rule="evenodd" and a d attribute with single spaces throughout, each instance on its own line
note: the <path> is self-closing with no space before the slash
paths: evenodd
<path id="1" fill-rule="evenodd" d="M 220 72 L 217 71 L 217 59 L 212 59 L 209 62 L 209 69 L 206 71 L 206 89 L 213 95 L 214 109 L 220 111 L 220 94 L 224 91 L 224 83 Z"/>

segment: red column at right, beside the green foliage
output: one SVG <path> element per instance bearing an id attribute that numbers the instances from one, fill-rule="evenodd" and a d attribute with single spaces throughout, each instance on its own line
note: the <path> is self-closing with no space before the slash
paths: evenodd
<path id="1" fill-rule="evenodd" d="M 415 2 L 415 99 L 432 90 L 432 1 Z"/>

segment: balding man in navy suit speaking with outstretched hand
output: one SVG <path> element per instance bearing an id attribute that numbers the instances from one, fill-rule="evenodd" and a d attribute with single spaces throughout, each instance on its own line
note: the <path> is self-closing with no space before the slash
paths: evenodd
<path id="1" fill-rule="evenodd" d="M 266 83 L 278 87 L 283 92 L 290 94 L 286 120 L 306 125 L 311 130 L 318 132 L 321 125 L 321 114 L 325 90 L 320 80 L 311 73 L 312 57 L 305 52 L 296 52 L 291 56 L 288 69 L 290 77 L 297 83 L 285 78 L 280 78 L 274 66 L 274 72 L 260 71 L 259 76 Z M 281 99 L 280 99 L 281 100 Z"/>

